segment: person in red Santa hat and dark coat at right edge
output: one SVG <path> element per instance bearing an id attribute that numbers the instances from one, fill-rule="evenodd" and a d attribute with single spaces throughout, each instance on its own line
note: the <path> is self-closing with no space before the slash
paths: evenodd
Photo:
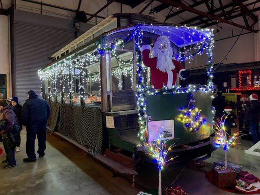
<path id="1" fill-rule="evenodd" d="M 257 94 L 249 96 L 250 103 L 246 106 L 246 119 L 250 121 L 250 132 L 252 133 L 253 143 L 260 141 L 260 101 Z"/>

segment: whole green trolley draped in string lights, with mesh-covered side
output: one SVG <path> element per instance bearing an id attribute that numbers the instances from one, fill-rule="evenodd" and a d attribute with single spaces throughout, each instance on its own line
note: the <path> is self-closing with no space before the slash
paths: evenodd
<path id="1" fill-rule="evenodd" d="M 156 89 L 151 84 L 156 75 L 151 78 L 150 62 L 143 63 L 142 46 L 161 36 L 169 40 L 176 63 L 208 56 L 206 85 L 163 83 Z M 92 155 L 109 151 L 131 157 L 133 166 L 141 158 L 153 162 L 144 143 L 156 141 L 158 134 L 175 144 L 168 156 L 178 157 L 170 164 L 211 156 L 216 149 L 212 37 L 209 29 L 159 23 L 140 14 L 106 18 L 39 70 L 42 98 L 52 106 L 50 132 L 78 140 Z M 179 77 L 166 74 L 168 83 L 170 75 Z"/>

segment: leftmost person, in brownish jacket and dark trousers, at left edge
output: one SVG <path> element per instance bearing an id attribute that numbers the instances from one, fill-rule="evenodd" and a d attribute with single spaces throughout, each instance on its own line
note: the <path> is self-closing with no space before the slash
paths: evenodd
<path id="1" fill-rule="evenodd" d="M 0 102 L 0 120 L 5 120 L 4 129 L 0 131 L 1 136 L 3 137 L 3 147 L 6 153 L 6 159 L 2 163 L 8 163 L 4 165 L 3 168 L 10 168 L 16 166 L 15 160 L 15 149 L 9 148 L 9 138 L 8 131 L 12 128 L 13 125 L 18 124 L 17 117 L 14 113 L 15 108 L 13 106 L 7 105 L 5 102 Z"/>

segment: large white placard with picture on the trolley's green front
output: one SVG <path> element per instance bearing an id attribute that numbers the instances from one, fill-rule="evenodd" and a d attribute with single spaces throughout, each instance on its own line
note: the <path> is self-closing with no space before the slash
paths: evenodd
<path id="1" fill-rule="evenodd" d="M 174 121 L 173 120 L 157 120 L 148 121 L 148 138 L 149 141 L 157 140 L 159 135 L 162 140 L 174 138 Z"/>

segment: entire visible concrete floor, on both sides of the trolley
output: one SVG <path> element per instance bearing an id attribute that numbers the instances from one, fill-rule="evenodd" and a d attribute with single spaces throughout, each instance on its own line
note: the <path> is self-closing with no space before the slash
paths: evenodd
<path id="1" fill-rule="evenodd" d="M 3 169 L 0 166 L 0 194 L 5 195 L 136 195 L 146 189 L 158 187 L 158 175 L 155 167 L 139 170 L 136 181 L 143 188 L 132 188 L 131 183 L 121 177 L 112 177 L 112 173 L 90 157 L 83 155 L 77 148 L 54 136 L 47 136 L 46 156 L 33 163 L 23 163 L 25 157 L 25 131 L 22 131 L 21 152 L 16 153 L 17 167 Z M 243 143 L 244 145 L 250 142 Z M 2 147 L 2 143 L 0 143 Z M 5 154 L 0 155 L 0 160 Z M 224 159 L 222 149 L 207 159 L 202 169 L 185 168 L 167 170 L 162 173 L 162 186 L 183 187 L 189 195 L 232 195 L 220 190 L 205 178 L 205 172 L 212 169 L 214 161 Z M 230 148 L 228 161 L 240 164 L 244 170 L 260 177 L 260 157 L 244 154 L 244 150 Z"/>

